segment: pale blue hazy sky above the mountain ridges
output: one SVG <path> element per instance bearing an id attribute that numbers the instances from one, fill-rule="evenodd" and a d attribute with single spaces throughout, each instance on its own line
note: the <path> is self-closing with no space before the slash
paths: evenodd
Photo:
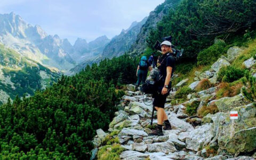
<path id="1" fill-rule="evenodd" d="M 109 39 L 141 21 L 164 0 L 0 0 L 0 13 L 14 12 L 49 35 L 71 44 L 106 35 Z"/>

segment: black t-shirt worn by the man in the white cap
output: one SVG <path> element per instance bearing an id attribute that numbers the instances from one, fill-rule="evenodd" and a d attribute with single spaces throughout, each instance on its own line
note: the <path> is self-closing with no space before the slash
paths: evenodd
<path id="1" fill-rule="evenodd" d="M 174 71 L 175 59 L 170 54 L 172 54 L 172 53 L 163 54 L 162 57 L 159 58 L 159 62 L 161 63 L 161 65 L 159 66 L 159 76 L 162 76 L 162 78 L 161 78 L 162 83 L 165 82 L 165 78 L 166 78 L 166 75 L 167 75 L 166 68 L 168 66 L 172 67 L 172 74 L 173 74 L 173 71 Z M 171 74 L 171 77 L 172 77 L 172 74 Z"/>

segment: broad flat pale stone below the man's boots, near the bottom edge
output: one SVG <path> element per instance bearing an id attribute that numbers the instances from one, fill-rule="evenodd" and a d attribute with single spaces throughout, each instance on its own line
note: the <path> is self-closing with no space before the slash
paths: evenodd
<path id="1" fill-rule="evenodd" d="M 172 142 L 153 143 L 148 145 L 149 152 L 173 153 L 177 151 Z"/>

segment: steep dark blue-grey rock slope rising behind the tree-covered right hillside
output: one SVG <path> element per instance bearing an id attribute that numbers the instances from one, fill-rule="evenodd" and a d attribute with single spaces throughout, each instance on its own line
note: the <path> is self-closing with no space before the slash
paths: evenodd
<path id="1" fill-rule="evenodd" d="M 149 31 L 155 29 L 157 22 L 161 21 L 169 10 L 174 8 L 179 2 L 180 0 L 165 0 L 164 3 L 158 5 L 154 11 L 150 12 L 149 17 L 141 27 L 140 33 L 138 34 L 135 43 L 132 45 L 130 52 L 142 53 L 146 49 L 146 38 L 149 35 Z"/>

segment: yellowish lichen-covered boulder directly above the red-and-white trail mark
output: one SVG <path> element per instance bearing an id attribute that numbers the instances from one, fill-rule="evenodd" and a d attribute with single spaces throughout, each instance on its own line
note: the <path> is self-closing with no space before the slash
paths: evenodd
<path id="1" fill-rule="evenodd" d="M 215 101 L 215 105 L 218 107 L 219 111 L 227 112 L 233 110 L 236 106 L 247 105 L 250 102 L 246 100 L 244 95 L 238 94 L 234 97 L 224 97 Z"/>

